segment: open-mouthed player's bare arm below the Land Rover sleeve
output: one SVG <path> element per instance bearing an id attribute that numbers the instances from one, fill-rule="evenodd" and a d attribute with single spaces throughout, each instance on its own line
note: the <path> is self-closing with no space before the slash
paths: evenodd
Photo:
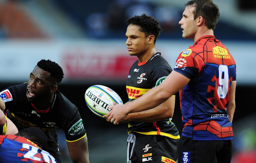
<path id="1" fill-rule="evenodd" d="M 89 163 L 87 136 L 75 142 L 67 142 L 69 155 L 73 163 Z"/>

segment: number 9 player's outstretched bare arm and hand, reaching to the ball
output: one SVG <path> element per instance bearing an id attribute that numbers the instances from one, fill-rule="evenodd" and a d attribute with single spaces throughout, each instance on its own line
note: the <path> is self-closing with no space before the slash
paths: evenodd
<path id="1" fill-rule="evenodd" d="M 126 103 L 125 105 L 109 107 L 112 110 L 107 114 L 108 120 L 113 118 L 113 120 L 115 120 L 114 124 L 118 124 L 128 115 L 128 113 L 154 108 L 185 87 L 189 80 L 189 78 L 181 73 L 172 71 L 165 79 L 165 82 L 152 88 L 140 98 L 133 100 L 130 103 Z"/>

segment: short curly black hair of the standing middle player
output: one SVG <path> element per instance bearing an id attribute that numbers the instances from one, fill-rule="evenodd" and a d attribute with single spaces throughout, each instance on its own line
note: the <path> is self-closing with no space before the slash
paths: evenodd
<path id="1" fill-rule="evenodd" d="M 134 16 L 126 20 L 127 24 L 133 24 L 140 27 L 140 31 L 145 33 L 145 37 L 149 35 L 154 35 L 156 43 L 156 39 L 160 35 L 162 31 L 160 23 L 153 16 L 147 16 L 146 14 L 142 14 L 141 16 Z"/>

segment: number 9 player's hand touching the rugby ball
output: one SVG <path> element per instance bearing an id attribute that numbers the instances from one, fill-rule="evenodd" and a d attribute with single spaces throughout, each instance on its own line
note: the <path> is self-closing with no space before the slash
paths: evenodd
<path id="1" fill-rule="evenodd" d="M 108 114 L 104 115 L 108 122 L 117 125 L 119 122 L 123 122 L 124 118 L 128 115 L 125 109 L 125 105 L 114 104 L 109 107 L 111 110 Z"/>

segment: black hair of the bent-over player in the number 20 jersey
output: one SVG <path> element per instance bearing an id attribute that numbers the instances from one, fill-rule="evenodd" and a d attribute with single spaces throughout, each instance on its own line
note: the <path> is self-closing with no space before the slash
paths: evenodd
<path id="1" fill-rule="evenodd" d="M 25 128 L 23 130 L 20 130 L 16 135 L 31 140 L 33 143 L 39 145 L 42 149 L 46 148 L 47 138 L 40 128 Z"/>

